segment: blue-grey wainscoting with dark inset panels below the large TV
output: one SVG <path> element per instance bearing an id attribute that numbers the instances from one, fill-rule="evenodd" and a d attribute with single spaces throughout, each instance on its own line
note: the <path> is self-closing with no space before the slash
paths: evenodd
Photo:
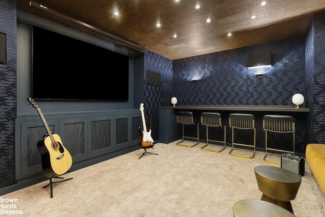
<path id="1" fill-rule="evenodd" d="M 72 170 L 108 154 L 118 154 L 122 149 L 138 147 L 141 138 L 139 109 L 44 116 L 50 130 L 60 136 L 63 146 L 70 152 Z M 45 134 L 38 115 L 20 115 L 16 119 L 16 180 L 43 173 L 37 142 Z"/>

